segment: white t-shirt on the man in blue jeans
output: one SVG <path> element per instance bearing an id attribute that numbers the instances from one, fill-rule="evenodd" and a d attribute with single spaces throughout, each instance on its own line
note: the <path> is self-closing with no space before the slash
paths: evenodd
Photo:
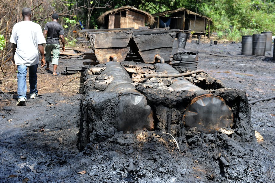
<path id="1" fill-rule="evenodd" d="M 41 26 L 32 21 L 15 23 L 10 42 L 17 44 L 15 64 L 26 66 L 38 64 L 38 44 L 46 43 Z"/>

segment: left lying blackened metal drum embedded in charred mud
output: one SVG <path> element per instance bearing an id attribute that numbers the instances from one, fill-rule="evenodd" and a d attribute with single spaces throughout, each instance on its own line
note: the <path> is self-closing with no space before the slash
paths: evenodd
<path id="1" fill-rule="evenodd" d="M 152 130 L 154 119 L 151 107 L 147 105 L 146 97 L 138 92 L 127 71 L 119 62 L 107 62 L 101 75 L 113 78 L 104 92 L 116 92 L 118 98 L 118 124 L 117 129 L 127 132 L 141 129 Z"/>

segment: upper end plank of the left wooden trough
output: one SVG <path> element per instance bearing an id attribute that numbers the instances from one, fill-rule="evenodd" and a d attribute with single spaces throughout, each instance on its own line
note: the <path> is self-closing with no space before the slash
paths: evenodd
<path id="1" fill-rule="evenodd" d="M 92 49 L 127 47 L 132 31 L 88 34 Z"/>

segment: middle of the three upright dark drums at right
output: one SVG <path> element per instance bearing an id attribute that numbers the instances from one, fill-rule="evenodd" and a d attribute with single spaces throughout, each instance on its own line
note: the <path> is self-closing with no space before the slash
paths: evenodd
<path id="1" fill-rule="evenodd" d="M 265 34 L 252 35 L 252 55 L 265 56 Z"/>

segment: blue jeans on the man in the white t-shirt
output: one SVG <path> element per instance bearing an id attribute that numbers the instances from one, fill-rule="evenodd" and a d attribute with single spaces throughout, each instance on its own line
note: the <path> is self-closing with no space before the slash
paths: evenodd
<path id="1" fill-rule="evenodd" d="M 17 98 L 25 98 L 27 99 L 27 83 L 26 83 L 26 78 L 27 78 L 27 67 L 29 67 L 29 82 L 30 82 L 30 94 L 32 93 L 38 93 L 38 90 L 36 88 L 37 86 L 37 65 L 31 65 L 31 66 L 26 66 L 26 65 L 18 65 L 17 66 Z"/>

